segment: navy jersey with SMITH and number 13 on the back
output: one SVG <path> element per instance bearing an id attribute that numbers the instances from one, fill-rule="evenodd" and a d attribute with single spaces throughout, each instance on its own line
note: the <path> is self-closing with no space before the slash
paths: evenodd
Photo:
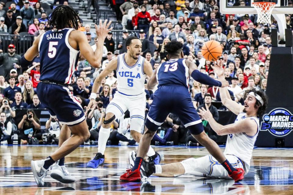
<path id="1" fill-rule="evenodd" d="M 189 69 L 186 59 L 171 59 L 163 62 L 157 70 L 158 87 L 162 85 L 182 85 L 189 89 Z"/>

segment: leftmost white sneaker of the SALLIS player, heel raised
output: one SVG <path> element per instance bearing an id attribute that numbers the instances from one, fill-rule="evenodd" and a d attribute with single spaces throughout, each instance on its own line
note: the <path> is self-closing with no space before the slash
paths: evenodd
<path id="1" fill-rule="evenodd" d="M 36 180 L 38 186 L 42 187 L 44 186 L 44 178 L 48 174 L 48 170 L 46 170 L 43 165 L 45 161 L 31 161 L 31 170 L 34 174 L 34 180 Z"/>

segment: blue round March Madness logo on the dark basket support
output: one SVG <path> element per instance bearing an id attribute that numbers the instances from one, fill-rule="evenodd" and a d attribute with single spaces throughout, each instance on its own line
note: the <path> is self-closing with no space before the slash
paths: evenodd
<path id="1" fill-rule="evenodd" d="M 284 108 L 275 108 L 263 115 L 261 131 L 269 131 L 274 136 L 283 137 L 293 130 L 293 115 Z"/>

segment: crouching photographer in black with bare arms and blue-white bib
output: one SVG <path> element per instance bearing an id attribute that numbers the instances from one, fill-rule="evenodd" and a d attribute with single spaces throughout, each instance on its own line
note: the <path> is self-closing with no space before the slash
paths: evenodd
<path id="1" fill-rule="evenodd" d="M 28 144 L 33 137 L 42 142 L 41 123 L 33 110 L 27 110 L 27 113 L 18 123 L 18 129 L 20 130 L 18 144 Z"/>

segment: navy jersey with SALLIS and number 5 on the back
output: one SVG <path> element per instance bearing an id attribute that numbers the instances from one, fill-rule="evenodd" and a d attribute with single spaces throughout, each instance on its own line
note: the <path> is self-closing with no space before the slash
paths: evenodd
<path id="1" fill-rule="evenodd" d="M 40 80 L 71 84 L 79 55 L 79 51 L 68 42 L 72 30 L 74 29 L 49 30 L 40 37 Z"/>

